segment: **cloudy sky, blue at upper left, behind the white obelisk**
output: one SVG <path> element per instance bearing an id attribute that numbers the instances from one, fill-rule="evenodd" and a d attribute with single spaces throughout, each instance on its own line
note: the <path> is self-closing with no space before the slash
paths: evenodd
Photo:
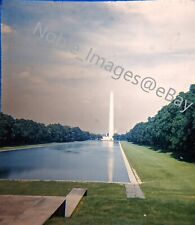
<path id="1" fill-rule="evenodd" d="M 111 72 L 78 58 L 84 59 L 92 48 L 114 66 L 152 77 L 166 91 L 188 91 L 195 81 L 194 15 L 195 2 L 188 0 L 6 1 L 3 112 L 107 132 L 113 90 L 115 129 L 129 130 L 168 102 L 123 78 L 114 80 Z"/>

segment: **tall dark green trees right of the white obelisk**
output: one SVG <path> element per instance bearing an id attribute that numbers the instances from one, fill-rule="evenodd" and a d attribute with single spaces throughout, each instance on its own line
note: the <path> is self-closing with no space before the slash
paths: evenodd
<path id="1" fill-rule="evenodd" d="M 188 100 L 188 103 L 195 103 L 194 86 L 191 86 L 190 92 L 180 93 L 179 96 Z M 164 149 L 186 159 L 195 160 L 195 106 L 192 105 L 181 113 L 177 106 L 170 103 L 156 116 L 148 118 L 147 122 L 135 125 L 121 136 L 121 139 Z"/>

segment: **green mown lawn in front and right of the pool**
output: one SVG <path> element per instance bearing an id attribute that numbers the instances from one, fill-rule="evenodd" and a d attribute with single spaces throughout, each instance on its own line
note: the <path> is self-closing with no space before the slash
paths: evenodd
<path id="1" fill-rule="evenodd" d="M 72 187 L 88 196 L 71 219 L 53 218 L 47 225 L 194 225 L 195 164 L 169 154 L 123 142 L 146 199 L 126 199 L 119 184 L 0 181 L 0 194 L 66 195 Z"/>

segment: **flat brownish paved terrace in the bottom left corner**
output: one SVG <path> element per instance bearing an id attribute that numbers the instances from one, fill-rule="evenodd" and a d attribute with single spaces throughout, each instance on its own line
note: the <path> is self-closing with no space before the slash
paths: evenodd
<path id="1" fill-rule="evenodd" d="M 0 225 L 42 225 L 65 214 L 65 197 L 0 196 Z"/>

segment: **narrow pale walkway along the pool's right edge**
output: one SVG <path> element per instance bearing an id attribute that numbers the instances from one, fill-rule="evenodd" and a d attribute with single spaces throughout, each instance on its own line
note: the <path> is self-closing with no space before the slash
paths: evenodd
<path id="1" fill-rule="evenodd" d="M 121 143 L 119 142 L 124 163 L 127 169 L 127 174 L 129 176 L 130 183 L 125 184 L 127 198 L 145 198 L 144 193 L 142 192 L 139 184 L 141 183 L 140 178 L 138 177 L 135 170 L 130 166 L 129 161 L 123 151 Z"/>

